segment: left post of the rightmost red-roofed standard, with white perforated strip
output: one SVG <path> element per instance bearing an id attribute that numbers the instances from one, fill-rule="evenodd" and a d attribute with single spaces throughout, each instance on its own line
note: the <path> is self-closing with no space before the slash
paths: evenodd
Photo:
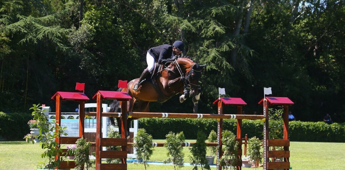
<path id="1" fill-rule="evenodd" d="M 266 120 L 264 122 L 264 170 L 268 170 L 268 158 L 267 158 L 267 154 L 268 154 L 268 104 L 267 104 L 267 99 L 264 98 L 263 100 L 263 113 L 264 116 L 266 117 Z"/>

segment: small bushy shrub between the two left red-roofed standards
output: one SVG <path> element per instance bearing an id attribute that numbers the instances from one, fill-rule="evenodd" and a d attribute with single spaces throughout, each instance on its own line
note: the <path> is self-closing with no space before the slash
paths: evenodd
<path id="1" fill-rule="evenodd" d="M 90 160 L 89 157 L 89 152 L 90 152 L 90 142 L 86 142 L 85 138 L 80 138 L 77 140 L 76 148 L 73 150 L 74 151 L 74 161 L 76 162 L 77 167 L 75 169 L 77 170 L 89 170 L 92 161 Z"/>

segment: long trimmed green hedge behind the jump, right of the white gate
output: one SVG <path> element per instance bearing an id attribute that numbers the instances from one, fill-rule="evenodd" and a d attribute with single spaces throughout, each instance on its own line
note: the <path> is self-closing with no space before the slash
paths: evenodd
<path id="1" fill-rule="evenodd" d="M 139 119 L 139 128 L 145 128 L 154 139 L 165 139 L 165 135 L 170 131 L 183 131 L 187 139 L 196 139 L 198 130 L 209 134 L 211 130 L 217 130 L 215 119 L 162 119 L 162 118 L 142 118 Z M 236 133 L 236 120 L 224 119 L 223 129 Z M 263 122 L 260 120 L 242 121 L 243 137 L 263 138 Z M 334 123 L 328 125 L 324 122 L 289 122 L 289 136 L 291 141 L 311 141 L 311 142 L 344 142 L 345 125 Z"/>

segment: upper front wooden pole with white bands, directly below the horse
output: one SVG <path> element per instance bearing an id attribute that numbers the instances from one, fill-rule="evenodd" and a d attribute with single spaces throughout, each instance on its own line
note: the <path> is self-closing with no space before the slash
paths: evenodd
<path id="1" fill-rule="evenodd" d="M 263 119 L 264 115 L 218 115 L 198 113 L 145 113 L 128 112 L 128 117 L 133 118 L 197 118 L 197 119 Z"/>

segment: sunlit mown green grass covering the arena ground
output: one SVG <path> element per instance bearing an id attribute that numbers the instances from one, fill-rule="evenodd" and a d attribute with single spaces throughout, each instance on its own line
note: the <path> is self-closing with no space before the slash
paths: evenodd
<path id="1" fill-rule="evenodd" d="M 38 162 L 44 161 L 40 157 L 41 151 L 38 144 L 27 144 L 24 141 L 0 142 L 0 170 L 34 170 Z M 185 162 L 189 162 L 190 153 L 187 147 L 184 148 L 184 152 Z M 165 148 L 157 147 L 150 160 L 163 161 L 166 157 Z M 290 165 L 294 170 L 345 170 L 345 143 L 291 142 Z M 145 168 L 141 164 L 128 164 L 128 170 L 143 169 Z M 147 169 L 171 170 L 174 167 L 150 165 Z M 193 168 L 184 167 L 181 170 L 191 169 Z"/>

